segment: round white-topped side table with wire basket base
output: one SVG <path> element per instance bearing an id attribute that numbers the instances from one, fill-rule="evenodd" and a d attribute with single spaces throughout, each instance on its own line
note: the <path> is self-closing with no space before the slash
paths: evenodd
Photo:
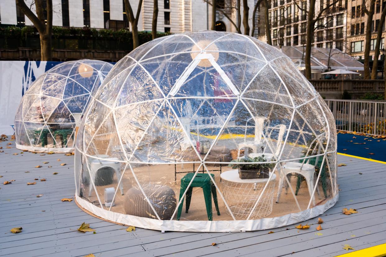
<path id="1" fill-rule="evenodd" d="M 269 172 L 269 176 L 271 174 L 272 172 Z M 223 181 L 223 196 L 235 218 L 248 218 L 267 183 L 267 188 L 250 219 L 259 219 L 271 214 L 276 174 L 272 174 L 271 179 L 240 179 L 239 171 L 232 169 L 222 172 L 220 177 Z M 228 208 L 225 207 L 225 210 L 230 215 Z"/>

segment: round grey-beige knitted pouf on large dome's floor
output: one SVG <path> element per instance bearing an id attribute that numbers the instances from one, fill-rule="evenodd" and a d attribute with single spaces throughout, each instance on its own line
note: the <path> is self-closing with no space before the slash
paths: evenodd
<path id="1" fill-rule="evenodd" d="M 161 220 L 170 220 L 177 206 L 176 194 L 173 189 L 168 186 L 153 186 L 151 184 L 143 189 L 159 218 Z M 125 194 L 125 212 L 139 217 L 157 218 L 141 190 L 137 188 L 127 190 Z"/>

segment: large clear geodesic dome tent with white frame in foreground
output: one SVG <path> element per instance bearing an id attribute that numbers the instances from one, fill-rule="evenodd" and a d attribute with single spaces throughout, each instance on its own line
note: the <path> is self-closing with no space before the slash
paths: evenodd
<path id="1" fill-rule="evenodd" d="M 313 86 L 252 37 L 175 34 L 130 52 L 80 125 L 76 201 L 157 230 L 240 231 L 338 199 L 336 129 Z"/>

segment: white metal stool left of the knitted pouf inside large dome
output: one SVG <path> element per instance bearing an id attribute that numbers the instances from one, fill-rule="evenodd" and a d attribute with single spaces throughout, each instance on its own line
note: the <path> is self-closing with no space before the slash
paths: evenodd
<path id="1" fill-rule="evenodd" d="M 108 158 L 110 160 L 117 160 L 117 161 L 119 160 L 118 158 L 109 157 L 108 155 L 105 155 L 105 154 L 98 154 L 96 157 L 98 157 L 98 158 Z M 92 181 L 95 182 L 98 170 L 104 169 L 104 168 L 111 168 L 111 169 L 113 169 L 113 171 L 115 172 L 115 175 L 117 176 L 117 180 L 119 181 L 119 179 L 121 177 L 120 162 L 113 162 L 113 161 L 107 161 L 107 160 L 101 160 L 101 159 L 93 159 L 93 158 L 89 158 L 89 162 L 90 162 L 90 179 Z M 93 189 L 93 184 L 90 182 L 90 189 L 88 191 L 88 196 L 89 197 L 91 196 L 92 189 Z M 123 185 L 122 185 L 122 183 L 120 183 L 119 189 L 120 189 L 121 194 L 123 195 L 124 192 L 123 192 Z"/>

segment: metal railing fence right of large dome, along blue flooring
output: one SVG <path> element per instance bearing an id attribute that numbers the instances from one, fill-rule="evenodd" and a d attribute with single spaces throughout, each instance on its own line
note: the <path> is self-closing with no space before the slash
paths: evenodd
<path id="1" fill-rule="evenodd" d="M 386 101 L 325 100 L 338 130 L 386 135 Z"/>

